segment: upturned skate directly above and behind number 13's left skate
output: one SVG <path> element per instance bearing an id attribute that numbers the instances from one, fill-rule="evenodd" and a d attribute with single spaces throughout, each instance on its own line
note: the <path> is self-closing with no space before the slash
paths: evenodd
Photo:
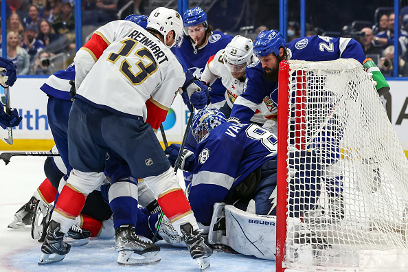
<path id="1" fill-rule="evenodd" d="M 42 199 L 36 202 L 32 218 L 31 237 L 38 240 L 38 242 L 44 242 L 45 240 L 52 208 L 51 204 L 47 205 Z"/>

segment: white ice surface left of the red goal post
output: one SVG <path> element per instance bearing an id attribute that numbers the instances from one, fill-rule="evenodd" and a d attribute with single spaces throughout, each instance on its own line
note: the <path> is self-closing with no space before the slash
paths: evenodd
<path id="1" fill-rule="evenodd" d="M 13 214 L 30 200 L 45 179 L 45 157 L 12 157 L 5 166 L 0 161 L 0 271 L 199 271 L 186 248 L 161 246 L 161 262 L 139 267 L 117 264 L 115 240 L 91 239 L 83 247 L 71 247 L 61 262 L 38 266 L 41 243 L 32 240 L 30 227 L 8 229 Z M 275 262 L 215 251 L 210 271 L 275 271 Z"/>

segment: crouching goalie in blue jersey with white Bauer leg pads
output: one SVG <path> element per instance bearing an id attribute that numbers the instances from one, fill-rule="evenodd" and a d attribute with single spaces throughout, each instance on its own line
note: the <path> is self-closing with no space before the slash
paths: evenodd
<path id="1" fill-rule="evenodd" d="M 194 116 L 192 135 L 198 145 L 188 198 L 209 243 L 275 260 L 277 138 L 256 124 L 227 122 L 216 109 Z M 311 160 L 311 152 L 293 153 L 298 160 Z M 291 196 L 301 200 L 289 205 L 293 217 L 311 209 L 319 197 L 319 164 L 312 165 L 293 169 L 290 186 L 315 192 Z"/>

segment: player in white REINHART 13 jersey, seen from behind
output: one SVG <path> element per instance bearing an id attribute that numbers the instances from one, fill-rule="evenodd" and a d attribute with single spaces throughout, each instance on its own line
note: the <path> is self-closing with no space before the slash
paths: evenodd
<path id="1" fill-rule="evenodd" d="M 192 258 L 202 261 L 212 254 L 152 126 L 145 123 L 149 108 L 155 111 L 157 123 L 163 122 L 174 93 L 183 85 L 183 69 L 168 49 L 180 45 L 182 39 L 181 16 L 157 8 L 149 16 L 147 32 L 128 21 L 113 21 L 100 27 L 77 53 L 77 93 L 68 134 L 73 170 L 54 209 L 39 264 L 62 260 L 69 252 L 62 236 L 79 214 L 86 195 L 102 182 L 109 150 L 128 163 L 134 177 L 146 179 L 163 212 L 185 238 Z M 126 191 L 137 190 L 135 184 L 124 184 Z M 135 236 L 134 226 L 117 228 L 116 237 L 123 256 L 135 252 L 146 262 L 158 261 L 159 248 Z M 49 258 L 53 253 L 56 256 Z"/>

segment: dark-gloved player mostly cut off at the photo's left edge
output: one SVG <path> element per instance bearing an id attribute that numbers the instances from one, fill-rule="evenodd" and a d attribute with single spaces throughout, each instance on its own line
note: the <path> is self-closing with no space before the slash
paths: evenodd
<path id="1" fill-rule="evenodd" d="M 0 57 L 0 85 L 4 88 L 13 86 L 17 79 L 16 68 L 11 60 Z M 19 126 L 23 117 L 19 116 L 17 109 L 12 109 L 11 114 L 8 115 L 4 111 L 4 105 L 0 102 L 0 126 L 1 128 L 8 128 Z"/>

